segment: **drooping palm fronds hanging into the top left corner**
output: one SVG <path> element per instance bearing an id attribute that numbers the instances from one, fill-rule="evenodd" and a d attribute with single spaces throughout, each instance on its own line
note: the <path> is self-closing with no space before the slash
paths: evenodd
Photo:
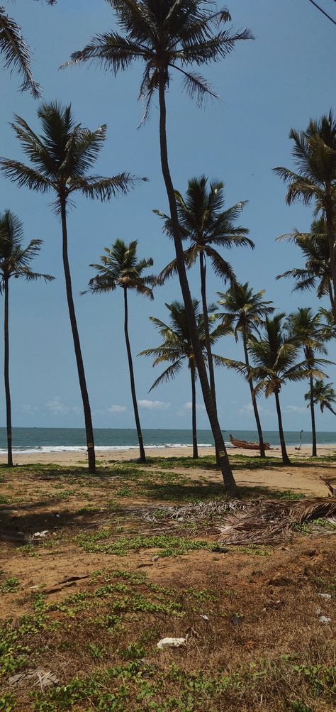
<path id="1" fill-rule="evenodd" d="M 16 69 L 22 76 L 21 91 L 29 90 L 33 97 L 40 97 L 40 85 L 31 72 L 31 51 L 21 35 L 21 27 L 7 15 L 0 5 L 0 54 L 5 69 Z"/>

